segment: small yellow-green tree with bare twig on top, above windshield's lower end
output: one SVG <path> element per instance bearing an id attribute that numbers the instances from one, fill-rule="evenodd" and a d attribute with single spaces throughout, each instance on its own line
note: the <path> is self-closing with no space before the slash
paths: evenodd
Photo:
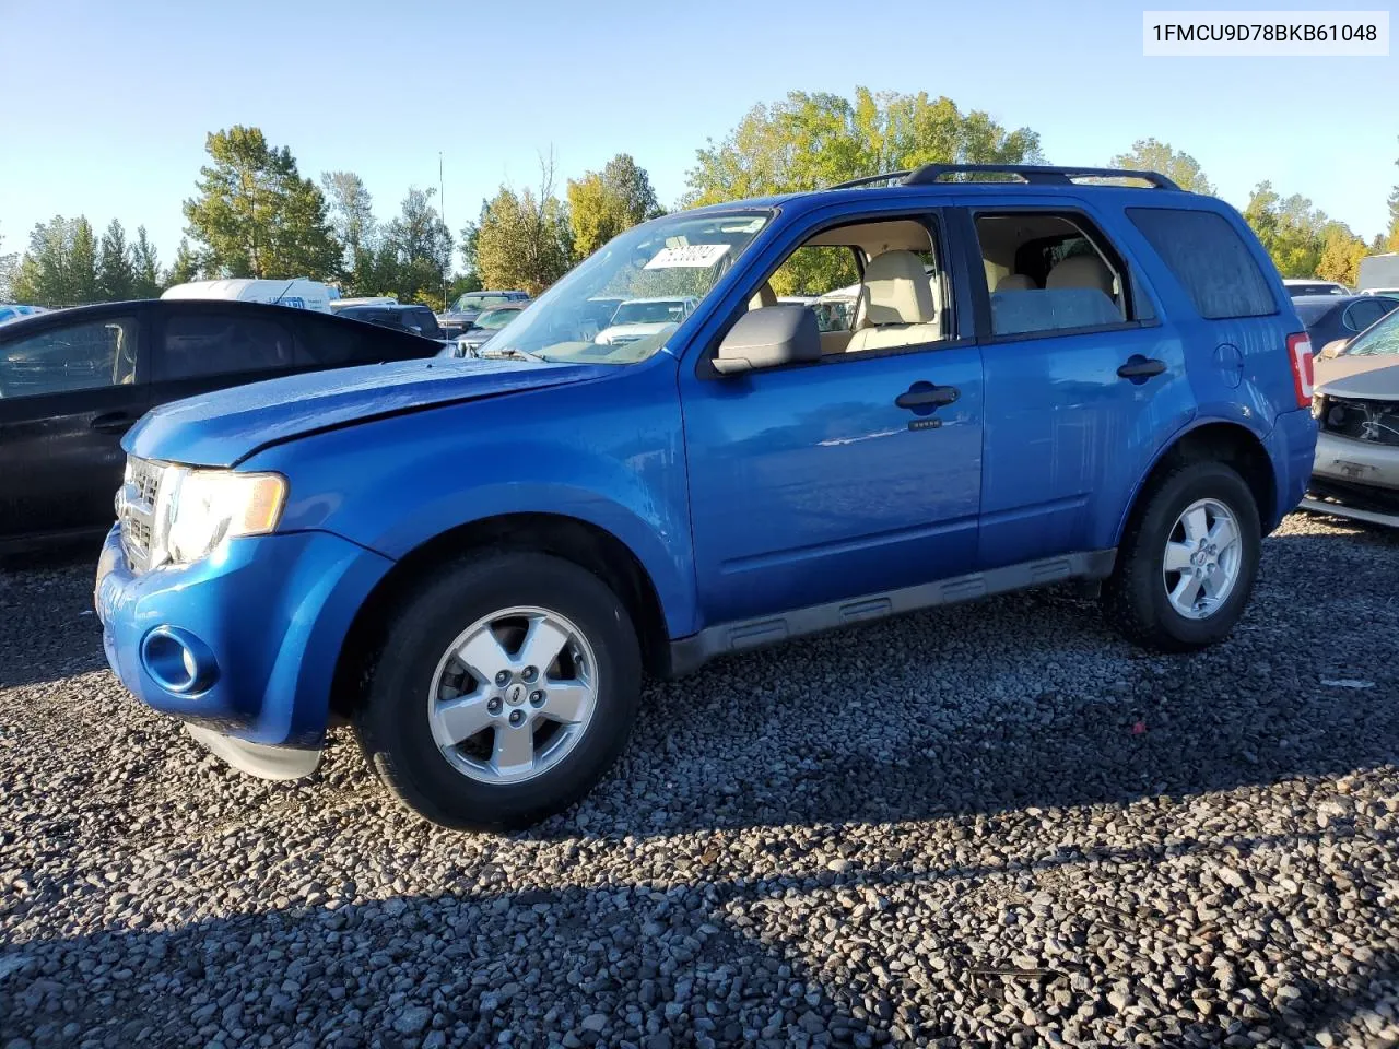
<path id="1" fill-rule="evenodd" d="M 481 207 L 481 218 L 463 231 L 474 245 L 476 273 L 487 288 L 523 288 L 537 295 L 562 277 L 572 259 L 568 208 L 554 196 L 551 162 L 541 165 L 539 193 L 501 192 Z"/>

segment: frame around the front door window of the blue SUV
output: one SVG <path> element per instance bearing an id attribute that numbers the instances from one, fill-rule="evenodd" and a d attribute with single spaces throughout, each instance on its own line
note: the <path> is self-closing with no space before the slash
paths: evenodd
<path id="1" fill-rule="evenodd" d="M 949 207 L 944 201 L 933 200 L 914 200 L 909 201 L 907 207 L 893 207 L 880 208 L 873 211 L 851 211 L 839 215 L 825 215 L 817 218 L 816 221 L 806 222 L 800 227 L 800 232 L 795 238 L 786 238 L 783 241 L 782 250 L 775 256 L 775 262 L 764 266 L 755 278 L 744 280 L 743 291 L 737 298 L 737 302 L 730 308 L 727 316 L 718 324 L 713 334 L 704 340 L 704 348 L 695 361 L 695 376 L 700 379 L 723 379 L 719 372 L 713 369 L 713 355 L 719 350 L 719 343 L 729 333 L 729 329 L 737 322 L 740 316 L 747 309 L 748 301 L 757 294 L 758 288 L 767 281 L 772 280 L 772 276 L 782 269 L 786 260 L 797 250 L 800 250 L 807 241 L 827 229 L 838 229 L 845 225 L 860 225 L 866 222 L 897 222 L 897 221 L 916 221 L 929 231 L 929 236 L 933 239 L 937 248 L 939 260 L 942 262 L 940 273 L 943 278 L 947 280 L 947 274 L 951 274 L 951 290 L 950 295 L 944 294 L 944 301 L 950 305 L 953 311 L 953 333 L 946 338 L 939 338 L 933 343 L 916 343 L 912 345 L 900 347 L 880 347 L 873 350 L 860 350 L 858 352 L 848 354 L 831 354 L 828 358 L 820 361 L 806 361 L 799 364 L 786 364 L 778 368 L 764 368 L 760 372 L 753 372 L 753 375 L 768 375 L 775 372 L 792 371 L 796 368 L 827 368 L 839 366 L 842 364 L 849 364 L 863 359 L 876 359 L 884 357 L 897 357 L 904 354 L 923 354 L 923 352 L 939 352 L 942 350 L 951 350 L 956 347 L 972 345 L 977 343 L 975 334 L 970 330 L 965 304 L 963 301 L 961 288 L 965 285 L 965 274 L 958 271 L 957 266 L 957 248 L 956 241 L 951 238 L 949 231 L 950 215 L 954 208 Z M 867 260 L 862 259 L 862 252 L 855 250 L 856 269 L 860 274 L 860 281 L 865 280 L 865 264 Z"/>

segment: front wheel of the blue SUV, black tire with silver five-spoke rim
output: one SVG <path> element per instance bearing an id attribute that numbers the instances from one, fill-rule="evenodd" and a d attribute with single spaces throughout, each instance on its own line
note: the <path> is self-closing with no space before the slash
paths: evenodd
<path id="1" fill-rule="evenodd" d="M 597 576 L 536 552 L 473 555 L 393 617 L 355 732 L 404 806 L 455 829 L 561 813 L 616 762 L 637 719 L 641 650 Z"/>

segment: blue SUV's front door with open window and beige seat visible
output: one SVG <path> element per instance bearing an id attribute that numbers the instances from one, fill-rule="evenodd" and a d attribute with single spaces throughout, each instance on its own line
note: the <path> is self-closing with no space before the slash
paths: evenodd
<path id="1" fill-rule="evenodd" d="M 705 625 L 975 566 L 981 351 L 957 337 L 937 221 L 900 215 L 813 238 L 806 245 L 825 256 L 853 252 L 860 269 L 802 260 L 797 248 L 768 291 L 813 298 L 831 291 L 813 285 L 813 274 L 832 287 L 874 274 L 863 292 L 873 290 L 873 299 L 856 320 L 867 330 L 848 333 L 845 348 L 814 364 L 730 376 L 691 361 L 681 368 Z M 876 262 L 880 255 L 888 257 Z M 751 290 L 750 309 L 761 308 L 760 292 L 761 284 Z"/>

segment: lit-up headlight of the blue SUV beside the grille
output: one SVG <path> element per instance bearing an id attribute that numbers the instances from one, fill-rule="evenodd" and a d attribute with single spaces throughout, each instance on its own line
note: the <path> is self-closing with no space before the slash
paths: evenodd
<path id="1" fill-rule="evenodd" d="M 187 565 L 227 538 L 271 531 L 285 501 L 287 478 L 280 474 L 168 467 L 152 545 L 165 554 L 161 559 Z"/>

